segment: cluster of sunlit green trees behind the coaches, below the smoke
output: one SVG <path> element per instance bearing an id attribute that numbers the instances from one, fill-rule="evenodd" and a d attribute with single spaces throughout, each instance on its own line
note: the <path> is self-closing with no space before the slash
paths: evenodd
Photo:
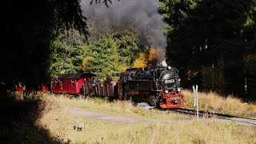
<path id="1" fill-rule="evenodd" d="M 52 76 L 82 71 L 98 77 L 117 76 L 130 68 L 138 53 L 138 37 L 133 30 L 113 32 L 109 26 L 89 22 L 89 31 L 88 40 L 75 30 L 64 31 L 54 40 Z"/>

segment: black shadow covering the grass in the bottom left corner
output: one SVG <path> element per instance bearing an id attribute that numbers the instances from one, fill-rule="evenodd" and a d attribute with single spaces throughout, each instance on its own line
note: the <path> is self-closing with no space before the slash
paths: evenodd
<path id="1" fill-rule="evenodd" d="M 44 106 L 35 98 L 1 99 L 0 143 L 64 143 L 62 139 L 50 137 L 49 130 L 36 124 Z"/>

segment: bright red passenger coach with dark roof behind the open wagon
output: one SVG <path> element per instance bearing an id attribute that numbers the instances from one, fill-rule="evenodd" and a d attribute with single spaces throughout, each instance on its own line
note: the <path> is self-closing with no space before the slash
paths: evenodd
<path id="1" fill-rule="evenodd" d="M 79 94 L 82 92 L 84 78 L 91 78 L 93 74 L 58 74 L 57 78 L 52 78 L 50 88 L 52 93 Z"/>

